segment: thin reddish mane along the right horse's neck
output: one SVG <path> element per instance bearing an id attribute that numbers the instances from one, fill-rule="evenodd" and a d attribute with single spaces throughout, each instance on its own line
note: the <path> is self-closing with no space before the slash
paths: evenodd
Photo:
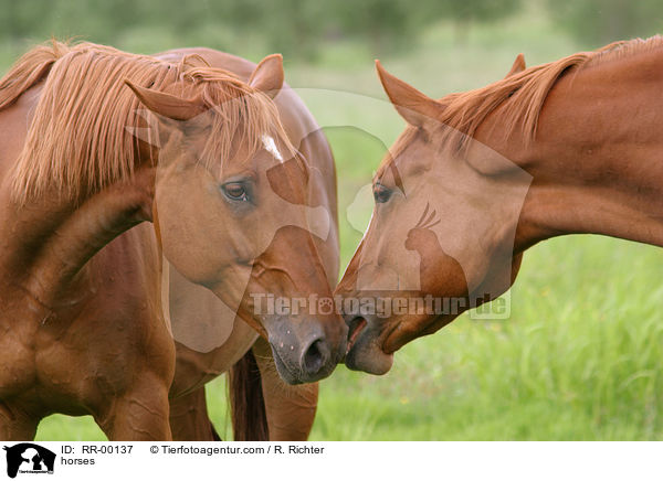
<path id="1" fill-rule="evenodd" d="M 502 107 L 496 115 L 499 116 L 498 121 L 506 126 L 507 136 L 519 128 L 525 142 L 530 142 L 535 138 L 544 103 L 562 75 L 570 70 L 599 65 L 662 45 L 663 36 L 659 35 L 614 42 L 597 51 L 576 53 L 527 68 L 483 88 L 448 95 L 440 99 L 445 108 L 436 120 L 451 128 L 441 129 L 440 140 L 442 145 L 463 152 L 486 117 Z M 402 149 L 413 135 L 413 131 L 403 133 L 394 150 L 399 150 L 399 146 Z"/>

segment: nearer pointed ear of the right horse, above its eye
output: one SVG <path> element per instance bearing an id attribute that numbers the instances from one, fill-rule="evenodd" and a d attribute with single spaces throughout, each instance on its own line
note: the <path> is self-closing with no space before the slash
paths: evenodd
<path id="1" fill-rule="evenodd" d="M 431 120 L 435 120 L 444 110 L 444 106 L 438 100 L 387 72 L 380 61 L 376 61 L 376 68 L 389 100 L 408 124 L 423 127 Z"/>

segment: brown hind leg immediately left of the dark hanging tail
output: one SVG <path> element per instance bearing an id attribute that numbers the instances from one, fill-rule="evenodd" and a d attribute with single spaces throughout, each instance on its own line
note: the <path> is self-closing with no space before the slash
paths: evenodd
<path id="1" fill-rule="evenodd" d="M 204 386 L 170 399 L 170 429 L 176 441 L 220 441 L 208 416 Z"/>

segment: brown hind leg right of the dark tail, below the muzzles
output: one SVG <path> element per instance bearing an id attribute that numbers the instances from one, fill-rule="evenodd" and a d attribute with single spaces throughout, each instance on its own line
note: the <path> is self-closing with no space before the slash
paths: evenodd
<path id="1" fill-rule="evenodd" d="M 315 419 L 318 383 L 286 384 L 276 372 L 270 344 L 262 338 L 253 345 L 253 354 L 260 368 L 270 440 L 305 441 Z"/>

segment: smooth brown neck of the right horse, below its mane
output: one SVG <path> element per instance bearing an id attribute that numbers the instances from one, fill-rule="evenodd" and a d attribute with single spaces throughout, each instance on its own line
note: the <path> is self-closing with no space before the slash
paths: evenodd
<path id="1" fill-rule="evenodd" d="M 533 177 L 516 252 L 564 234 L 663 246 L 662 64 L 655 50 L 571 72 L 551 89 L 527 149 L 498 127 L 484 139 Z"/>

